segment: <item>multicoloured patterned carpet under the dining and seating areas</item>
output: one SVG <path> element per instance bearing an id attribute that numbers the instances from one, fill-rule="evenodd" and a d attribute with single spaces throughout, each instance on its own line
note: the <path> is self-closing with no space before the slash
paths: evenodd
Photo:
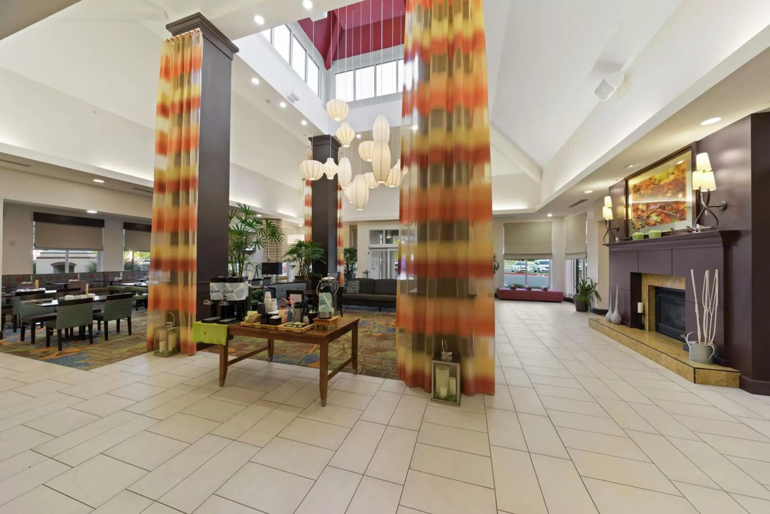
<path id="1" fill-rule="evenodd" d="M 376 307 L 361 307 L 358 310 L 347 310 L 345 316 L 360 318 L 358 329 L 358 371 L 363 375 L 383 378 L 396 378 L 396 311 L 384 309 L 377 311 Z M 29 344 L 29 333 L 25 342 L 21 341 L 21 333 L 13 333 L 11 328 L 5 328 L 3 339 L 0 340 L 0 352 L 39 359 L 54 364 L 70 366 L 79 369 L 93 369 L 119 362 L 123 359 L 146 352 L 147 311 L 139 309 L 132 317 L 132 335 L 126 330 L 125 321 L 121 324 L 121 332 L 115 331 L 115 322 L 110 323 L 109 341 L 105 341 L 101 333 L 95 331 L 94 344 L 86 341 L 65 340 L 62 351 L 56 348 L 55 335 L 51 348 L 45 348 L 45 331 L 39 329 L 35 334 L 35 345 Z M 94 325 L 94 329 L 96 326 Z M 236 337 L 230 341 L 229 353 L 232 357 L 243 355 L 253 349 L 264 346 L 265 341 Z M 205 351 L 217 353 L 218 348 Z M 329 365 L 334 368 L 350 356 L 350 334 L 344 335 L 329 348 Z M 266 359 L 266 352 L 257 358 Z M 318 368 L 319 348 L 309 344 L 276 341 L 273 360 L 283 364 L 292 364 Z"/>

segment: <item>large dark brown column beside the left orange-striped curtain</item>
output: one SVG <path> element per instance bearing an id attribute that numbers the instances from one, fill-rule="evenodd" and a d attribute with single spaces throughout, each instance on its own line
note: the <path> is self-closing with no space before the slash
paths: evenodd
<path id="1" fill-rule="evenodd" d="M 198 165 L 198 319 L 208 317 L 203 300 L 209 279 L 227 274 L 227 214 L 230 189 L 230 76 L 238 47 L 202 14 L 166 25 L 172 35 L 203 33 Z"/>

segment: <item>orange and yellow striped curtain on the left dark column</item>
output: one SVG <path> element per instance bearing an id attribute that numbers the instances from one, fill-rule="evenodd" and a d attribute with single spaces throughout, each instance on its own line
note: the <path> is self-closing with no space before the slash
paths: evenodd
<path id="1" fill-rule="evenodd" d="M 163 42 L 156 108 L 147 348 L 172 313 L 179 350 L 195 354 L 198 137 L 203 35 L 196 29 Z M 170 316 L 169 316 L 170 320 Z"/>

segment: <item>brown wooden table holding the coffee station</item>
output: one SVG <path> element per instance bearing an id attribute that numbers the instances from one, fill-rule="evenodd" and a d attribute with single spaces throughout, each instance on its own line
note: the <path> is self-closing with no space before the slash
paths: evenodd
<path id="1" fill-rule="evenodd" d="M 339 339 L 343 334 L 348 332 L 352 333 L 352 341 L 350 344 L 350 358 L 344 361 L 342 364 L 334 368 L 331 373 L 329 372 L 329 344 Z M 241 355 L 238 358 L 229 360 L 227 358 L 227 352 L 229 349 L 229 340 L 236 335 L 243 335 L 249 338 L 264 338 L 267 340 L 267 346 L 258 348 L 254 351 L 250 351 L 245 355 Z M 353 365 L 353 373 L 358 372 L 358 318 L 357 317 L 340 317 L 338 320 L 333 321 L 332 324 L 326 329 L 321 330 L 319 328 L 313 328 L 313 330 L 306 332 L 286 332 L 269 330 L 267 328 L 251 328 L 243 327 L 239 324 L 229 325 L 227 330 L 227 344 L 219 349 L 219 387 L 225 385 L 225 379 L 227 378 L 227 368 L 236 362 L 243 361 L 245 358 L 253 357 L 253 355 L 267 351 L 267 360 L 273 361 L 273 350 L 275 348 L 275 340 L 279 341 L 291 341 L 294 343 L 306 343 L 317 344 L 320 347 L 321 358 L 319 362 L 319 389 L 321 396 L 321 405 L 326 406 L 326 389 L 329 385 L 329 379 L 334 375 L 342 371 L 346 365 Z"/>

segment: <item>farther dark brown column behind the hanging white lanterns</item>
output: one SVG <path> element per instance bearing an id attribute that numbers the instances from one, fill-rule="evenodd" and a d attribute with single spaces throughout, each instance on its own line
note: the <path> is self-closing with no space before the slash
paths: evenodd
<path id="1" fill-rule="evenodd" d="M 334 136 L 315 136 L 310 138 L 313 145 L 313 160 L 326 163 L 331 157 L 339 163 L 340 142 Z M 336 186 L 337 179 L 329 180 L 324 175 L 313 181 L 313 240 L 323 247 L 326 264 L 313 267 L 316 273 L 336 276 Z"/>

